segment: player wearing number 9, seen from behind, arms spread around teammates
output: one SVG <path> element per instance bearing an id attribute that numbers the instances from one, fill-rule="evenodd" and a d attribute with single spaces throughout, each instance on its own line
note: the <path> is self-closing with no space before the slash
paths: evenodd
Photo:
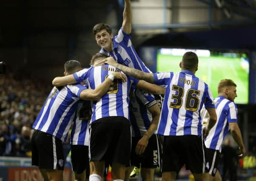
<path id="1" fill-rule="evenodd" d="M 107 56 L 97 53 L 91 59 L 91 65 L 98 64 Z M 102 65 L 83 69 L 73 75 L 54 78 L 55 86 L 85 82 L 91 89 L 101 84 L 106 78 L 111 78 L 112 72 L 119 72 L 116 67 Z M 92 181 L 101 181 L 104 164 L 112 163 L 112 179 L 124 180 L 125 167 L 130 165 L 131 150 L 131 126 L 129 122 L 129 89 L 131 84 L 137 86 L 140 81 L 127 77 L 127 82 L 114 81 L 100 100 L 94 101 L 93 114 L 91 118 L 91 135 L 89 142 L 90 169 L 89 177 Z M 154 89 L 156 94 L 162 94 L 165 89 L 162 87 L 148 84 Z M 159 88 L 158 88 L 159 87 Z M 156 90 L 160 90 L 159 92 Z"/>

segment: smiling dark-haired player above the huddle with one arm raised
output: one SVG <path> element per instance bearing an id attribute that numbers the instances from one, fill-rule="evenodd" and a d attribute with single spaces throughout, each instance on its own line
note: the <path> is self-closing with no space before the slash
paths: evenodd
<path id="1" fill-rule="evenodd" d="M 101 47 L 100 53 L 112 56 L 119 64 L 143 72 L 151 72 L 139 58 L 131 43 L 131 21 L 131 1 L 125 0 L 122 27 L 117 36 L 113 36 L 110 25 L 106 23 L 94 25 L 92 31 L 97 44 Z"/>

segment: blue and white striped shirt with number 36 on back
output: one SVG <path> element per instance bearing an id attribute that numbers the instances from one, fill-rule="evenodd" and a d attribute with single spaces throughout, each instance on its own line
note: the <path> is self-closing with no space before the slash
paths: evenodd
<path id="1" fill-rule="evenodd" d="M 208 85 L 185 70 L 154 73 L 154 82 L 167 85 L 156 133 L 202 136 L 200 110 L 204 103 L 207 108 L 214 108 Z"/>

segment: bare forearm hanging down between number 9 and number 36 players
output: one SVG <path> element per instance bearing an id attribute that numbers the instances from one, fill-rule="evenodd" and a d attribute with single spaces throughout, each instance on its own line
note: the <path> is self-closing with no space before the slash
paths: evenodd
<path id="1" fill-rule="evenodd" d="M 151 106 L 150 108 L 148 108 L 148 110 L 152 114 L 152 121 L 147 132 L 145 132 L 145 134 L 142 136 L 142 138 L 139 140 L 136 146 L 135 150 L 136 150 L 136 153 L 139 155 L 144 153 L 148 145 L 148 139 L 154 134 L 154 132 L 157 129 L 159 117 L 160 117 L 160 109 L 157 104 L 155 104 L 154 106 Z"/>

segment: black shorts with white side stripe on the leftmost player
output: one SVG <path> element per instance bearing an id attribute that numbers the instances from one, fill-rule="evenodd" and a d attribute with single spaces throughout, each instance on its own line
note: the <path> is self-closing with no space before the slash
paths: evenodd
<path id="1" fill-rule="evenodd" d="M 32 165 L 42 169 L 64 169 L 62 141 L 43 131 L 34 130 L 31 137 Z"/>

